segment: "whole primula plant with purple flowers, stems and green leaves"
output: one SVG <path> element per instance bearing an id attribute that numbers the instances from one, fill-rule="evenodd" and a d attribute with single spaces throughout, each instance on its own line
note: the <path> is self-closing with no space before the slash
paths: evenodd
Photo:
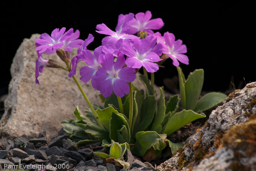
<path id="1" fill-rule="evenodd" d="M 195 70 L 187 80 L 178 67 L 180 63 L 189 64 L 187 47 L 180 39 L 175 40 L 172 33 L 163 36 L 153 30 L 164 25 L 162 19 L 151 19 L 151 12 L 129 13 L 119 15 L 115 31 L 105 24 L 98 24 L 96 32 L 105 34 L 101 46 L 94 52 L 87 50 L 94 37 L 89 34 L 86 40 L 80 40 L 79 31 L 71 28 L 56 28 L 51 35 L 42 34 L 35 40 L 38 59 L 36 61 L 35 82 L 39 84 L 38 76 L 44 66 L 64 69 L 68 77 L 72 77 L 78 85 L 89 108 L 82 112 L 78 106 L 74 111 L 77 119 L 67 119 L 61 122 L 64 130 L 71 137 L 83 139 L 76 143 L 101 141 L 102 145 L 110 147 L 110 155 L 100 154 L 103 158 L 121 159 L 124 151 L 143 156 L 145 160 L 156 158 L 168 147 L 174 153 L 182 143 L 172 143 L 167 136 L 174 133 L 192 121 L 206 117 L 206 109 L 225 100 L 222 93 L 209 93 L 199 99 L 203 86 L 203 70 Z M 136 35 L 135 35 L 136 34 Z M 77 55 L 70 57 L 73 48 L 78 48 Z M 43 53 L 56 53 L 65 65 L 53 59 L 43 59 Z M 177 67 L 180 79 L 180 97 L 170 96 L 165 101 L 163 87 L 160 87 L 160 98 L 157 99 L 154 90 L 154 73 L 159 65 L 167 59 L 172 59 Z M 80 69 L 80 80 L 88 82 L 101 93 L 104 106 L 91 104 L 86 93 L 76 79 L 76 66 L 84 61 L 87 66 Z M 168 60 L 167 60 L 168 61 Z M 144 75 L 136 76 L 140 68 Z M 151 82 L 148 79 L 151 74 Z M 146 91 L 139 90 L 132 82 L 139 77 Z M 177 111 L 181 100 L 183 110 Z M 125 147 L 124 147 L 125 146 Z M 116 152 L 117 151 L 117 152 Z M 126 163 L 119 161 L 125 168 Z"/>

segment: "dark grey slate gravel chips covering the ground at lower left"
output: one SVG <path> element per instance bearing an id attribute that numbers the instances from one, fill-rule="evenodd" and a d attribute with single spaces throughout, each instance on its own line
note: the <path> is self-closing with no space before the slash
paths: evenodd
<path id="1" fill-rule="evenodd" d="M 109 149 L 102 147 L 100 142 L 76 149 L 68 138 L 68 135 L 59 134 L 47 141 L 46 133 L 42 132 L 38 138 L 30 140 L 25 137 L 18 137 L 14 141 L 0 139 L 0 170 L 18 170 L 20 164 L 20 168 L 33 171 L 127 171 L 93 154 L 96 151 L 109 153 Z M 20 148 L 18 140 L 23 148 Z M 129 150 L 124 160 L 130 163 L 130 171 L 156 171 L 150 163 L 141 162 Z"/>

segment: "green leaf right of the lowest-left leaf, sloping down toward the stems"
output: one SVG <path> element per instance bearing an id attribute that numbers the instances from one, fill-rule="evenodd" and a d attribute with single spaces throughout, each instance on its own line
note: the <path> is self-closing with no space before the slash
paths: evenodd
<path id="1" fill-rule="evenodd" d="M 105 139 L 110 142 L 109 131 L 107 131 L 104 128 L 101 128 L 97 124 L 94 124 L 90 120 L 87 120 L 86 123 L 84 123 L 83 121 L 78 121 L 76 124 L 81 127 L 84 126 L 84 131 L 86 133 L 89 133 L 95 139 L 101 142 Z"/>

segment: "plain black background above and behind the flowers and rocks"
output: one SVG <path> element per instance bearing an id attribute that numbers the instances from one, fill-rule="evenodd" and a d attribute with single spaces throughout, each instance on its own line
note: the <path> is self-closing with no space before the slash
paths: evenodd
<path id="1" fill-rule="evenodd" d="M 32 1 L 34 2 L 34 1 Z M 40 4 L 41 3 L 41 4 Z M 80 39 L 88 34 L 94 42 L 87 48 L 101 45 L 105 35 L 95 32 L 97 24 L 105 23 L 114 30 L 120 13 L 151 11 L 152 19 L 162 18 L 165 25 L 158 30 L 172 32 L 187 46 L 189 65 L 181 64 L 185 77 L 195 69 L 204 69 L 203 90 L 222 91 L 233 78 L 238 87 L 256 81 L 253 5 L 241 1 L 38 1 L 36 4 L 8 3 L 1 10 L 0 95 L 7 93 L 11 80 L 12 59 L 24 38 L 34 33 L 51 34 L 55 28 L 80 31 Z M 254 29 L 253 29 L 254 28 Z M 177 75 L 172 60 L 156 74 L 156 83 Z M 43 73 L 42 73 L 43 74 Z M 245 78 L 245 81 L 244 81 Z"/>

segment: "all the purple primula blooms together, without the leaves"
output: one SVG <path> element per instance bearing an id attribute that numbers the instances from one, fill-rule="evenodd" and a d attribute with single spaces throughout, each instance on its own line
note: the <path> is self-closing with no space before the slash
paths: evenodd
<path id="1" fill-rule="evenodd" d="M 118 97 L 129 93 L 128 83 L 136 78 L 136 72 L 144 67 L 147 72 L 154 73 L 159 69 L 157 62 L 160 58 L 169 56 L 173 65 L 178 66 L 180 61 L 188 65 L 188 57 L 183 53 L 187 47 L 181 40 L 176 40 L 172 33 L 166 32 L 163 36 L 159 32 L 154 33 L 163 27 L 162 19 L 151 19 L 150 11 L 146 13 L 129 13 L 118 16 L 118 23 L 115 31 L 110 30 L 105 24 L 98 24 L 96 32 L 107 35 L 102 39 L 102 45 L 95 48 L 94 54 L 87 50 L 89 43 L 93 42 L 93 35 L 89 34 L 86 40 L 80 40 L 79 31 L 71 28 L 65 32 L 65 28 L 56 28 L 51 36 L 44 33 L 36 39 L 35 50 L 38 51 L 36 61 L 36 83 L 39 72 L 44 66 L 59 67 L 55 61 L 47 61 L 42 58 L 42 53 L 52 54 L 60 52 L 62 61 L 69 62 L 69 55 L 72 48 L 78 48 L 78 54 L 72 58 L 68 76 L 76 74 L 76 66 L 80 61 L 86 62 L 87 66 L 80 69 L 80 79 L 91 84 L 94 89 L 99 90 L 104 97 L 109 97 L 114 92 Z M 133 35 L 133 34 L 136 34 Z M 143 33 L 141 34 L 138 33 Z M 58 53 L 59 52 L 59 53 Z M 67 61 L 65 61 L 67 59 Z"/>

